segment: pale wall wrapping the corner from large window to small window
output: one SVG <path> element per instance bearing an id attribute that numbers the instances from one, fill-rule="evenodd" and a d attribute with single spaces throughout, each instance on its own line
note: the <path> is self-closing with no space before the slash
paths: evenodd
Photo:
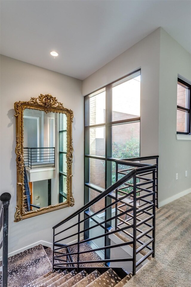
<path id="1" fill-rule="evenodd" d="M 89 94 L 138 68 L 141 156 L 159 155 L 158 197 L 162 206 L 191 191 L 191 141 L 176 140 L 177 77 L 181 74 L 191 81 L 191 55 L 158 28 L 87 77 L 82 93 Z"/>

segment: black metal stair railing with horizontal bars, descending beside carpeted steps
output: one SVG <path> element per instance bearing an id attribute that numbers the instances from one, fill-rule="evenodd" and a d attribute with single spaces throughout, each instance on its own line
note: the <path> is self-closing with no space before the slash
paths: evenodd
<path id="1" fill-rule="evenodd" d="M 117 164 L 120 164 L 119 162 Z M 70 257 L 75 257 L 72 264 L 74 268 L 79 268 L 85 264 L 91 266 L 97 263 L 97 260 L 82 260 L 81 254 L 89 252 L 107 251 L 116 247 L 130 245 L 133 248 L 133 256 L 128 258 L 107 258 L 99 260 L 108 266 L 111 262 L 132 262 L 133 275 L 136 268 L 142 264 L 151 255 L 155 256 L 155 188 L 156 188 L 156 165 L 140 162 L 123 161 L 122 165 L 129 166 L 125 169 L 124 176 L 116 181 L 112 186 L 100 193 L 96 198 L 85 204 L 78 211 L 68 216 L 53 227 L 53 268 L 67 269 L 71 266 Z M 131 168 L 133 167 L 133 168 Z M 121 172 L 121 170 L 118 170 Z M 150 185 L 152 184 L 152 188 Z M 149 187 L 149 188 L 148 188 Z M 101 199 L 107 196 L 112 198 L 112 202 L 97 212 L 91 214 L 88 212 L 94 204 L 99 204 Z M 94 216 L 115 208 L 115 214 L 111 218 L 97 222 L 96 225 L 87 227 L 86 222 L 93 219 Z M 71 221 L 74 224 L 71 225 Z M 108 228 L 108 222 L 115 222 L 115 225 Z M 122 223 L 122 224 L 121 224 Z M 63 225 L 65 225 L 63 229 Z M 103 234 L 96 234 L 91 238 L 85 239 L 84 234 L 96 227 L 104 229 Z M 94 229 L 95 230 L 95 229 Z M 66 234 L 67 231 L 67 234 Z M 112 234 L 122 232 L 127 236 L 126 241 L 110 245 L 105 240 L 105 246 L 91 250 L 81 251 L 80 246 L 83 243 L 93 241 L 98 238 L 108 238 Z M 70 243 L 68 243 L 70 242 Z M 77 251 L 70 251 L 70 248 L 77 245 Z M 67 252 L 64 248 L 67 247 Z M 136 260 L 137 254 L 145 251 L 143 257 Z M 96 267 L 95 267 L 96 268 Z"/>

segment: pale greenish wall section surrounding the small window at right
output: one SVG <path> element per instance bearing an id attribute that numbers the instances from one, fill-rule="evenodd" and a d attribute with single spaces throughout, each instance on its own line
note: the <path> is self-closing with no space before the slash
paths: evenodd
<path id="1" fill-rule="evenodd" d="M 191 191 L 191 141 L 176 139 L 177 77 L 191 83 L 191 54 L 163 29 L 160 50 L 159 202 L 164 205 Z"/>

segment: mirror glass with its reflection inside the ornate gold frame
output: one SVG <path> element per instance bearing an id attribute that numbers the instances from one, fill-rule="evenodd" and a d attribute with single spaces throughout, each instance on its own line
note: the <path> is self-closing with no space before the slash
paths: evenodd
<path id="1" fill-rule="evenodd" d="M 67 117 L 24 109 L 25 212 L 67 200 Z"/>

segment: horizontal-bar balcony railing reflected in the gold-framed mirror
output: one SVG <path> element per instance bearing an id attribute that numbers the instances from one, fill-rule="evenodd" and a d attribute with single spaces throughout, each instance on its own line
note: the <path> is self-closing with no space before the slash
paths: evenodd
<path id="1" fill-rule="evenodd" d="M 25 167 L 55 167 L 55 147 L 24 147 Z"/>

